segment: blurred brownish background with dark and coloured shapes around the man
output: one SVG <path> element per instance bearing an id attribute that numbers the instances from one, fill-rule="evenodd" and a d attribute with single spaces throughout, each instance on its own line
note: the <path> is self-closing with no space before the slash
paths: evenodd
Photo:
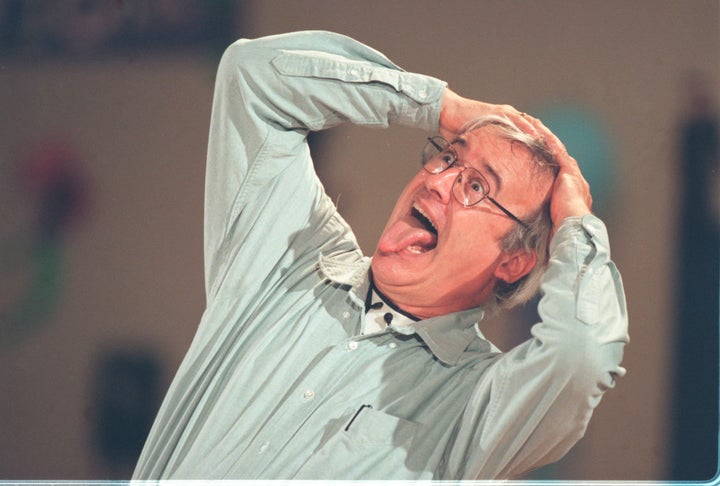
<path id="1" fill-rule="evenodd" d="M 0 480 L 129 478 L 204 308 L 219 56 L 303 29 L 541 117 L 590 180 L 627 293 L 628 374 L 529 477 L 714 477 L 717 0 L 0 0 Z M 366 252 L 425 136 L 313 136 Z M 532 318 L 483 329 L 507 348 Z"/>

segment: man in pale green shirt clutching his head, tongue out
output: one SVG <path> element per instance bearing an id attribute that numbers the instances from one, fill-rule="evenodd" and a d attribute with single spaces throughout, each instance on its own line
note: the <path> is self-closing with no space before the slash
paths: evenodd
<path id="1" fill-rule="evenodd" d="M 372 260 L 306 143 L 343 122 L 442 135 Z M 502 354 L 483 307 L 533 293 L 551 231 L 541 322 Z M 624 374 L 620 277 L 562 144 L 347 37 L 242 40 L 223 56 L 205 259 L 207 309 L 139 479 L 513 477 L 560 458 Z"/>

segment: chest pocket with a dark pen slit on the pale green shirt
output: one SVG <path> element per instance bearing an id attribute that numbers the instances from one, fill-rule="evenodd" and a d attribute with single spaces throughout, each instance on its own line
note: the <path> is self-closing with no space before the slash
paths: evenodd
<path id="1" fill-rule="evenodd" d="M 349 424 L 349 427 L 348 427 Z M 295 479 L 414 479 L 406 466 L 419 424 L 363 408 L 320 444 Z"/>

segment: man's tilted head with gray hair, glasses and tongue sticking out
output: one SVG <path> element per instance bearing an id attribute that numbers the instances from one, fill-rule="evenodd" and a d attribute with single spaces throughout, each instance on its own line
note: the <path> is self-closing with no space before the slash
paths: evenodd
<path id="1" fill-rule="evenodd" d="M 547 262 L 557 168 L 542 141 L 488 116 L 450 142 L 458 160 L 442 172 L 420 170 L 408 183 L 372 263 L 378 289 L 419 317 L 521 303 L 534 295 Z M 463 199 L 472 172 L 465 168 L 487 181 L 489 197 L 475 205 Z"/>

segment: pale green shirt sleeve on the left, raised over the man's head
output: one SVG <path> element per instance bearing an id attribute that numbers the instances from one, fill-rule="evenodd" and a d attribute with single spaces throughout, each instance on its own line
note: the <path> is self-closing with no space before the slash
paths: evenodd
<path id="1" fill-rule="evenodd" d="M 335 209 L 312 168 L 308 132 L 344 122 L 435 130 L 444 87 L 329 32 L 231 45 L 218 69 L 208 144 L 208 301 L 251 291 L 284 258 L 327 237 L 321 228 Z"/>

